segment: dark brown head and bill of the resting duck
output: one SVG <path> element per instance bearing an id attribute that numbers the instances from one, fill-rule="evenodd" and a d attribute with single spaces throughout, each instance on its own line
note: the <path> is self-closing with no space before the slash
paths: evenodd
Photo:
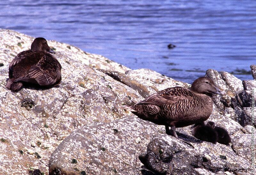
<path id="1" fill-rule="evenodd" d="M 44 38 L 36 38 L 31 44 L 31 50 L 35 52 L 50 52 L 55 54 L 54 50 L 48 46 L 47 41 Z"/>

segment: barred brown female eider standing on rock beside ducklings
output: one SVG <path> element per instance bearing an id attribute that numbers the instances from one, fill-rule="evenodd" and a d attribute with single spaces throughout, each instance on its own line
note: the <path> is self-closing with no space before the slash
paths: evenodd
<path id="1" fill-rule="evenodd" d="M 143 120 L 165 125 L 166 133 L 178 138 L 175 128 L 200 123 L 209 118 L 213 106 L 212 94 L 223 95 L 211 78 L 200 77 L 193 82 L 190 89 L 167 88 L 134 106 L 120 107 Z"/>

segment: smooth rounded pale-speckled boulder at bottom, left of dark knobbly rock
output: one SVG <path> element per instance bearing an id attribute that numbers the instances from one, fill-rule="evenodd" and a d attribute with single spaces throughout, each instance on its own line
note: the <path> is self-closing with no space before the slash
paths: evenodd
<path id="1" fill-rule="evenodd" d="M 145 151 L 151 135 L 160 134 L 158 130 L 155 124 L 137 117 L 86 125 L 69 135 L 52 153 L 49 174 L 57 170 L 60 174 L 114 174 L 139 169 L 142 164 L 138 156 Z M 74 158 L 76 163 L 72 163 Z"/>

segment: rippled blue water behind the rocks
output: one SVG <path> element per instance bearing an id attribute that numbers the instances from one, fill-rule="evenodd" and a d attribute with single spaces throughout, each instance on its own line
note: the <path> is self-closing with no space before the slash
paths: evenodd
<path id="1" fill-rule="evenodd" d="M 188 83 L 256 64 L 255 0 L 0 1 L 0 28 L 149 68 Z M 176 45 L 168 49 L 167 45 Z"/>

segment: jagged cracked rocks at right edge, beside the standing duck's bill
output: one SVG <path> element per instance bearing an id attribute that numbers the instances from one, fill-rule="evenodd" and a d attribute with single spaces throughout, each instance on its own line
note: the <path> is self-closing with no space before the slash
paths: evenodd
<path id="1" fill-rule="evenodd" d="M 241 81 L 228 72 L 219 73 L 213 69 L 207 70 L 206 76 L 211 77 L 214 83 L 225 92 L 225 96 L 213 96 L 219 112 L 235 120 L 241 126 L 252 125 L 252 117 L 248 111 L 251 110 L 251 90 L 256 86 L 256 81 Z"/>

